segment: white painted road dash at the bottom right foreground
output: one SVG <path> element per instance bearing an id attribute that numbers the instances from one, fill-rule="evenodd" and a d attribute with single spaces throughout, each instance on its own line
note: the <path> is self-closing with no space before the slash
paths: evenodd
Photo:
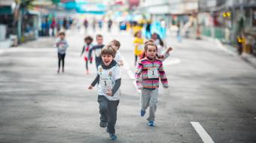
<path id="1" fill-rule="evenodd" d="M 209 136 L 209 134 L 206 132 L 206 130 L 203 129 L 199 122 L 190 122 L 190 124 L 192 124 L 204 143 L 214 143 L 211 136 Z"/>

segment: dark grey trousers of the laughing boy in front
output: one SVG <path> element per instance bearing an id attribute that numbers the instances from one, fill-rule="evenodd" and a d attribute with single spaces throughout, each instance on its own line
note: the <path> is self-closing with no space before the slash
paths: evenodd
<path id="1" fill-rule="evenodd" d="M 115 133 L 114 126 L 117 121 L 117 106 L 119 100 L 108 100 L 98 95 L 100 121 L 108 123 L 108 133 Z"/>

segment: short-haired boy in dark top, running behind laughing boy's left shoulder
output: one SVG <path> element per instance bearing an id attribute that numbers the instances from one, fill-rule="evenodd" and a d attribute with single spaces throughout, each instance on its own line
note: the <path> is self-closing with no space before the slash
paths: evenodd
<path id="1" fill-rule="evenodd" d="M 102 48 L 104 47 L 103 37 L 101 34 L 96 35 L 96 43 L 97 43 L 97 45 L 93 46 L 93 48 L 89 50 L 89 59 L 92 57 L 92 52 L 94 52 L 96 69 L 98 70 L 99 64 L 102 63 L 102 57 L 100 55 L 100 52 L 101 52 Z"/>

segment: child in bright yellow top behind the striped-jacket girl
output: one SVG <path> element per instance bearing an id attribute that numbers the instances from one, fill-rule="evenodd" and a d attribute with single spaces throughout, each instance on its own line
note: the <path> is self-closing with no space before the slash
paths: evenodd
<path id="1" fill-rule="evenodd" d="M 134 37 L 135 39 L 133 40 L 133 43 L 135 45 L 134 54 L 135 54 L 135 66 L 136 66 L 138 58 L 142 55 L 142 52 L 143 52 L 144 40 L 142 38 L 142 31 L 137 31 L 136 34 L 134 34 Z"/>

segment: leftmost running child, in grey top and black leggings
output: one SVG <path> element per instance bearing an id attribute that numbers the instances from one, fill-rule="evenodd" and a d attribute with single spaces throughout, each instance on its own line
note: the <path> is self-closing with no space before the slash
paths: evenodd
<path id="1" fill-rule="evenodd" d="M 58 49 L 58 70 L 57 73 L 59 73 L 60 69 L 60 62 L 62 61 L 62 73 L 64 73 L 64 65 L 65 65 L 65 56 L 66 56 L 66 49 L 69 47 L 68 42 L 65 39 L 65 32 L 60 31 L 59 32 L 59 37 L 56 40 L 55 43 L 56 48 Z"/>

